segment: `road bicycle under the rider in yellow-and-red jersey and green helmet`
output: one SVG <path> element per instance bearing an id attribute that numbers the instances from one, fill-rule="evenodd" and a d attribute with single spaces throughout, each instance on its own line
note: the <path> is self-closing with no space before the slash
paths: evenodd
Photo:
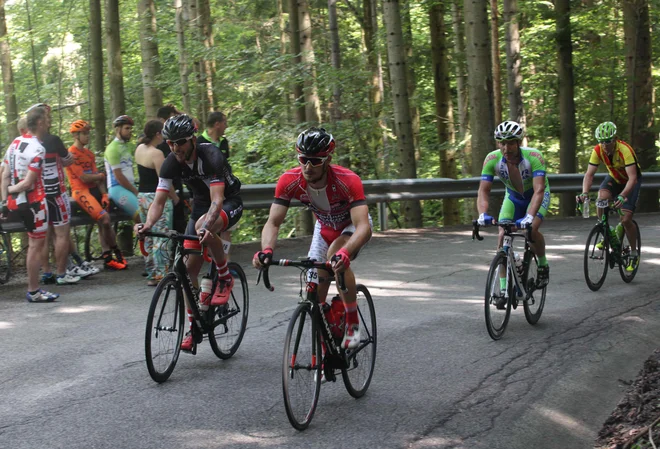
<path id="1" fill-rule="evenodd" d="M 642 255 L 642 236 L 639 232 L 639 225 L 635 220 L 635 230 L 637 232 L 637 264 L 633 271 L 627 271 L 626 267 L 630 264 L 631 258 L 631 245 L 628 241 L 628 236 L 623 233 L 621 241 L 610 230 L 609 214 L 613 210 L 610 206 L 611 202 L 607 199 L 596 201 L 596 207 L 602 210 L 600 218 L 596 224 L 591 228 L 587 243 L 584 247 L 584 279 L 587 281 L 587 286 L 593 291 L 598 291 L 605 282 L 607 277 L 608 268 L 619 266 L 619 274 L 623 282 L 630 283 L 637 275 L 639 270 L 639 262 Z M 578 206 L 579 208 L 579 206 Z M 623 212 L 617 209 L 619 215 Z"/>

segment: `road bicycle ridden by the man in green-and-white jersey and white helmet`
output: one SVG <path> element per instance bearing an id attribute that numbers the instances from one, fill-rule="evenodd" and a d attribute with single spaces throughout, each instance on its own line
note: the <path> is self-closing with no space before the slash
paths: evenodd
<path id="1" fill-rule="evenodd" d="M 504 229 L 503 246 L 497 251 L 486 281 L 485 315 L 486 329 L 493 340 L 499 340 L 504 335 L 509 323 L 511 308 L 517 309 L 522 301 L 525 318 L 529 324 L 536 324 L 541 318 L 545 306 L 545 295 L 548 286 L 538 288 L 538 260 L 532 252 L 532 228 L 526 232 L 514 232 L 517 228 L 513 222 L 500 222 L 497 226 Z M 516 237 L 525 239 L 525 251 L 522 259 L 517 259 L 513 251 L 513 241 Z M 472 240 L 483 240 L 479 235 L 479 223 L 472 222 Z M 506 276 L 506 287 L 501 288 L 500 278 Z"/>

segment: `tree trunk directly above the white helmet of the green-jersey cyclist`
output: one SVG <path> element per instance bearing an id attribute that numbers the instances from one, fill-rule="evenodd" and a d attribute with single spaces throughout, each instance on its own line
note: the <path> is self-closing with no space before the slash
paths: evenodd
<path id="1" fill-rule="evenodd" d="M 504 0 L 506 23 L 506 68 L 509 90 L 509 119 L 525 127 L 525 110 L 522 101 L 522 73 L 520 71 L 520 32 L 518 25 L 518 0 Z"/>

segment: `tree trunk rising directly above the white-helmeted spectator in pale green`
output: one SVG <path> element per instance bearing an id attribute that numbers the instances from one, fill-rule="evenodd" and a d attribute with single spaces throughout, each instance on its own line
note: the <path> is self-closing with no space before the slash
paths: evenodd
<path id="1" fill-rule="evenodd" d="M 108 75 L 110 81 L 110 111 L 114 118 L 126 113 L 124 65 L 121 59 L 121 37 L 119 34 L 119 0 L 105 0 L 105 2 L 105 32 L 108 46 Z M 96 26 L 98 26 L 98 24 Z"/>

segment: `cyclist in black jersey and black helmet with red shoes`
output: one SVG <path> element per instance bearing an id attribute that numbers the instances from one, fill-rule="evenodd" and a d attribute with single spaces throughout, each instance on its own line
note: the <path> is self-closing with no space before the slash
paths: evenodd
<path id="1" fill-rule="evenodd" d="M 151 229 L 163 214 L 169 197 L 172 182 L 181 179 L 193 193 L 193 207 L 186 234 L 197 234 L 199 241 L 186 240 L 189 249 L 201 249 L 201 244 L 209 247 L 218 269 L 217 288 L 210 295 L 210 305 L 221 306 L 229 301 L 234 278 L 227 268 L 227 257 L 222 249 L 218 233 L 234 226 L 243 214 L 243 201 L 240 197 L 241 182 L 232 174 L 224 155 L 212 144 L 198 143 L 197 127 L 193 119 L 182 114 L 169 118 L 163 126 L 163 137 L 172 149 L 160 167 L 158 188 L 153 203 L 149 207 L 144 224 L 135 225 L 138 236 Z M 188 274 L 195 287 L 202 266 L 201 256 L 191 255 L 186 262 Z M 201 298 L 207 301 L 208 298 Z M 190 298 L 186 298 L 186 302 Z M 188 321 L 192 327 L 192 311 L 188 306 Z M 181 343 L 183 351 L 193 349 L 192 329 L 186 333 Z M 198 342 L 197 342 L 198 343 Z"/>

